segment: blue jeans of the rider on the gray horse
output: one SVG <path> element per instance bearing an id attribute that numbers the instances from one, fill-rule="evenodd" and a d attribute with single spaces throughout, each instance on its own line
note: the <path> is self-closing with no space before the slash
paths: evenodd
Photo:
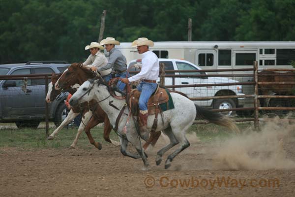
<path id="1" fill-rule="evenodd" d="M 141 82 L 137 86 L 137 90 L 141 92 L 138 103 L 140 110 L 148 110 L 148 99 L 150 98 L 151 94 L 156 91 L 156 89 L 156 83 L 148 83 L 145 81 Z"/>

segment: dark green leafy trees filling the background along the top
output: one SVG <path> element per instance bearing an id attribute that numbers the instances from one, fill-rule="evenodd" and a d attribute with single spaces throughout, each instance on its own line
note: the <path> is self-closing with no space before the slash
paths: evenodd
<path id="1" fill-rule="evenodd" d="M 132 42 L 187 40 L 294 40 L 294 0 L 0 0 L 0 63 L 80 62 L 104 37 Z"/>

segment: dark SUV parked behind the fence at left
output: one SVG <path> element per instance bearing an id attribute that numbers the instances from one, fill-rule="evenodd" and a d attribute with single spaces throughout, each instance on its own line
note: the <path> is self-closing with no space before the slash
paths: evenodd
<path id="1" fill-rule="evenodd" d="M 0 65 L 0 75 L 51 74 L 63 72 L 69 64 L 64 61 L 28 62 Z M 50 82 L 50 81 L 49 81 Z M 24 91 L 24 83 L 27 90 Z M 0 122 L 15 122 L 18 128 L 37 128 L 45 120 L 45 79 L 1 80 Z M 49 119 L 59 125 L 64 118 L 66 95 L 49 104 Z"/>

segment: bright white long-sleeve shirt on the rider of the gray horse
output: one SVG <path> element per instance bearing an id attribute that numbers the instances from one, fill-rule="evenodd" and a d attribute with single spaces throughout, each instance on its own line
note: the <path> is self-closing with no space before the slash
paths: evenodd
<path id="1" fill-rule="evenodd" d="M 160 66 L 158 57 L 153 52 L 147 51 L 143 53 L 141 71 L 138 74 L 129 77 L 128 80 L 130 82 L 139 79 L 157 80 L 159 76 L 159 71 Z"/>

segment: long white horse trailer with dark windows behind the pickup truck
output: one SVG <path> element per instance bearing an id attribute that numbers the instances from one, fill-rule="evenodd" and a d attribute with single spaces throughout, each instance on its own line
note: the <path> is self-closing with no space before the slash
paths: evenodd
<path id="1" fill-rule="evenodd" d="M 127 64 L 141 59 L 131 42 L 116 46 L 125 55 Z M 181 59 L 194 63 L 202 69 L 250 68 L 258 61 L 259 69 L 292 68 L 295 60 L 295 41 L 174 41 L 154 42 L 150 47 L 159 58 Z M 242 74 L 245 72 L 235 72 Z M 252 72 L 253 73 L 253 72 Z M 219 73 L 218 73 L 219 74 Z M 220 72 L 220 74 L 234 74 Z M 252 81 L 253 77 L 235 78 L 238 81 Z M 243 87 L 245 94 L 253 94 L 252 87 Z M 248 102 L 246 101 L 248 100 Z M 253 99 L 245 99 L 245 105 L 253 105 Z"/>

